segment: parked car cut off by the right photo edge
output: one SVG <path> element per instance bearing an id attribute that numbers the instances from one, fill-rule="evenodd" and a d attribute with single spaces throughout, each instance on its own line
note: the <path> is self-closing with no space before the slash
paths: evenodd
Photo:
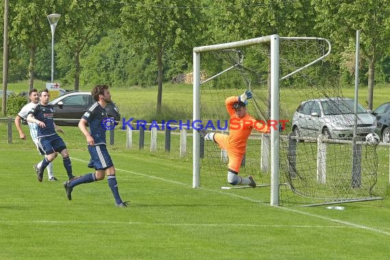
<path id="1" fill-rule="evenodd" d="M 372 112 L 376 116 L 375 133 L 382 142 L 390 142 L 390 102 L 383 103 Z"/>

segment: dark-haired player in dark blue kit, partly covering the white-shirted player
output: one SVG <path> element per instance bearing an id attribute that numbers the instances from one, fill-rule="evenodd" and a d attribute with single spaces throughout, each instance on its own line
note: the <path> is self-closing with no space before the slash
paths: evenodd
<path id="1" fill-rule="evenodd" d="M 42 182 L 44 169 L 57 157 L 57 153 L 62 155 L 68 178 L 75 179 L 76 177 L 72 174 L 72 164 L 70 163 L 68 149 L 66 149 L 64 140 L 62 140 L 60 135 L 55 133 L 55 131 L 60 133 L 64 133 L 64 131 L 54 123 L 53 106 L 49 105 L 49 90 L 41 90 L 39 99 L 38 105 L 33 107 L 27 116 L 27 122 L 33 122 L 38 125 L 38 146 L 46 155 L 40 162 L 40 168 L 36 170 L 38 181 Z"/>

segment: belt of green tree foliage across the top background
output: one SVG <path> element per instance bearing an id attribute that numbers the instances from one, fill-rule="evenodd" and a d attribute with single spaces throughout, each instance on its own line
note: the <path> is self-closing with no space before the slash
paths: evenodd
<path id="1" fill-rule="evenodd" d="M 34 70 L 35 79 L 50 80 L 51 33 L 46 15 L 53 12 L 62 14 L 55 30 L 55 79 L 72 85 L 70 88 L 77 81 L 78 88 L 90 88 L 96 83 L 114 87 L 159 84 L 162 90 L 163 82 L 192 71 L 193 47 L 269 34 L 329 38 L 333 51 L 328 58 L 330 66 L 342 75 L 341 81 L 353 83 L 350 65 L 354 64 L 356 29 L 361 29 L 360 82 L 369 82 L 372 62 L 376 63 L 375 83 L 390 81 L 390 5 L 385 0 L 162 3 L 13 1 L 8 81 L 26 79 L 29 70 Z M 34 56 L 31 64 L 30 52 Z M 221 71 L 216 60 L 203 64 L 211 75 Z M 238 79 L 220 77 L 217 81 L 218 88 L 234 88 Z"/>

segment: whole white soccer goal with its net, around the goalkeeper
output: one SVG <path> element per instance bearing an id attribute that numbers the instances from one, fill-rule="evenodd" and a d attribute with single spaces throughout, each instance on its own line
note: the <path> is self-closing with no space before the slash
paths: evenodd
<path id="1" fill-rule="evenodd" d="M 330 49 L 324 38 L 271 35 L 193 50 L 196 128 L 228 134 L 224 100 L 244 90 L 253 94 L 248 104 L 252 116 L 265 122 L 288 121 L 281 132 L 252 131 L 239 173 L 253 175 L 259 187 L 270 186 L 271 205 L 371 200 L 384 192 L 376 187 L 376 146 L 367 145 L 364 138 L 348 139 L 350 135 L 340 138 L 343 142 L 329 139 L 326 131 L 313 138 L 292 125 L 302 101 L 343 99 L 339 75 L 326 60 Z M 359 118 L 357 123 L 363 125 Z M 230 188 L 226 151 L 204 142 L 196 129 L 193 135 L 193 187 L 218 183 Z"/>

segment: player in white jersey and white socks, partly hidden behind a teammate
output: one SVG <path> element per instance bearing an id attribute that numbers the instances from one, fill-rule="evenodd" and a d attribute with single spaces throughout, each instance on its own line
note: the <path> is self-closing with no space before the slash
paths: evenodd
<path id="1" fill-rule="evenodd" d="M 23 130 L 21 127 L 21 120 L 26 120 L 28 112 L 33 107 L 35 107 L 36 104 L 38 104 L 38 101 L 39 101 L 38 90 L 36 90 L 35 88 L 34 88 L 34 90 L 30 90 L 29 91 L 29 99 L 31 100 L 31 102 L 28 103 L 27 105 L 25 105 L 24 107 L 22 107 L 21 111 L 18 113 L 18 115 L 15 118 L 16 129 L 18 129 L 19 137 L 23 140 L 26 139 L 26 135 L 25 135 L 25 133 L 23 133 Z M 36 144 L 36 148 L 40 152 L 40 155 L 44 155 L 44 153 L 42 153 L 42 151 L 40 151 L 40 148 L 38 146 L 38 133 L 37 133 L 38 125 L 36 123 L 33 123 L 33 122 L 28 122 L 28 125 L 29 125 L 29 129 L 30 129 L 31 139 L 33 140 L 34 144 Z M 36 167 L 40 168 L 40 164 L 35 165 L 34 169 Z M 49 166 L 47 166 L 47 176 L 49 177 L 49 181 L 58 181 L 57 178 L 54 177 L 53 164 L 51 164 L 51 163 L 49 164 Z"/>

